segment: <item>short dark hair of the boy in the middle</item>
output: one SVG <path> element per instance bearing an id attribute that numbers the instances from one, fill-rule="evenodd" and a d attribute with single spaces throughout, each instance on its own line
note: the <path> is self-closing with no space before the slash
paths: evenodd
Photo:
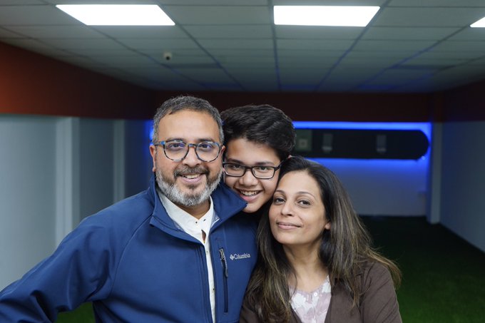
<path id="1" fill-rule="evenodd" d="M 220 113 L 223 118 L 225 145 L 230 140 L 245 138 L 270 146 L 280 160 L 285 160 L 295 147 L 296 132 L 291 119 L 273 106 L 240 106 Z"/>

